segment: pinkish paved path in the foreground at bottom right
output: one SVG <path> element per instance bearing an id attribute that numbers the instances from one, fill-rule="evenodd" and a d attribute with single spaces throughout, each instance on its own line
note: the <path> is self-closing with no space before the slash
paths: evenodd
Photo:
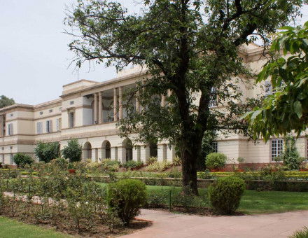
<path id="1" fill-rule="evenodd" d="M 308 211 L 255 216 L 193 216 L 143 209 L 138 218 L 153 221 L 153 225 L 123 238 L 283 238 L 304 225 L 308 226 Z"/>

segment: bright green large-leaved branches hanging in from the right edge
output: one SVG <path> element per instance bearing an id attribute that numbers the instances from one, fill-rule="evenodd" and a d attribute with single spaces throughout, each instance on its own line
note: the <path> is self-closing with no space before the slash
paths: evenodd
<path id="1" fill-rule="evenodd" d="M 243 117 L 250 122 L 254 137 L 262 136 L 265 141 L 292 130 L 300 135 L 308 125 L 308 22 L 281 30 L 270 49 L 279 55 L 265 65 L 257 80 L 260 83 L 270 78 L 276 92 Z"/>

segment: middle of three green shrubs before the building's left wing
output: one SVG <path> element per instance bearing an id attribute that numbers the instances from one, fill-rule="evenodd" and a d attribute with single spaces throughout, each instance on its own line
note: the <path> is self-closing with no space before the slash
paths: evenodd
<path id="1" fill-rule="evenodd" d="M 40 161 L 48 163 L 55 158 L 59 158 L 59 149 L 59 142 L 43 143 L 38 141 L 36 148 L 34 148 L 34 153 Z"/>

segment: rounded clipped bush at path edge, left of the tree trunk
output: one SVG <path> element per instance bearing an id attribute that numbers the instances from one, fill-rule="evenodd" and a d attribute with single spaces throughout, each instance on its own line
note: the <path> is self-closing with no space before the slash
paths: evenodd
<path id="1" fill-rule="evenodd" d="M 139 214 L 140 208 L 146 204 L 146 185 L 134 179 L 123 179 L 109 183 L 108 204 L 125 225 Z"/>

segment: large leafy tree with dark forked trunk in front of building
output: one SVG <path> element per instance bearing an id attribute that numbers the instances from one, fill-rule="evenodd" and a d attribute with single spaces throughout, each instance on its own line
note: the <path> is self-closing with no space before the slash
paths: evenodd
<path id="1" fill-rule="evenodd" d="M 267 34 L 299 15 L 303 2 L 144 0 L 141 13 L 130 15 L 120 3 L 78 0 L 65 22 L 78 29 L 67 31 L 74 37 L 69 48 L 76 66 L 87 61 L 118 70 L 144 66 L 147 75 L 127 94 L 127 118 L 118 126 L 123 134 L 138 134 L 134 140 L 168 139 L 180 148 L 183 188 L 197 194 L 196 161 L 204 132 L 246 132 L 237 114 L 248 104 L 237 104 L 237 89 L 251 73 L 242 64 L 239 45 L 257 35 L 268 43 Z M 166 106 L 160 106 L 161 95 L 169 95 Z M 133 97 L 141 111 L 134 110 Z M 224 111 L 210 109 L 216 97 Z"/>

